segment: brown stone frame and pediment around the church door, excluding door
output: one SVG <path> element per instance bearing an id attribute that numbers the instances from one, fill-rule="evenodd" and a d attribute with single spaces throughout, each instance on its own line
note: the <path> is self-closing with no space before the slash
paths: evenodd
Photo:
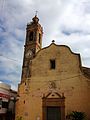
<path id="1" fill-rule="evenodd" d="M 47 107 L 60 107 L 61 109 L 61 120 L 65 120 L 65 97 L 64 95 L 58 95 L 58 98 L 49 98 L 52 93 L 49 93 L 42 98 L 42 120 L 47 120 Z M 52 95 L 53 96 L 53 95 Z"/>

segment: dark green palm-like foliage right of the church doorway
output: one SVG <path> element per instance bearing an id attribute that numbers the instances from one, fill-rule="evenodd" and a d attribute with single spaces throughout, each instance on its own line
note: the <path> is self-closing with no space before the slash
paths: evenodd
<path id="1" fill-rule="evenodd" d="M 84 112 L 72 111 L 69 115 L 67 115 L 68 120 L 85 120 L 86 115 Z"/>

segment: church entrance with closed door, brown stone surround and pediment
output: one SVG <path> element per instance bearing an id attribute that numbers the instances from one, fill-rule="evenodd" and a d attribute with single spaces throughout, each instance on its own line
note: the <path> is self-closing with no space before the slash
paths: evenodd
<path id="1" fill-rule="evenodd" d="M 57 92 L 42 98 L 42 120 L 65 120 L 65 97 Z"/>

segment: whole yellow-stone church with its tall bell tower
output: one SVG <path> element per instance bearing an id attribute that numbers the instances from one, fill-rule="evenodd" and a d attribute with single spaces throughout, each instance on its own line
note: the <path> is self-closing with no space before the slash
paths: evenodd
<path id="1" fill-rule="evenodd" d="M 16 120 L 66 120 L 72 111 L 90 120 L 90 68 L 66 45 L 42 48 L 43 28 L 35 15 L 27 24 Z"/>

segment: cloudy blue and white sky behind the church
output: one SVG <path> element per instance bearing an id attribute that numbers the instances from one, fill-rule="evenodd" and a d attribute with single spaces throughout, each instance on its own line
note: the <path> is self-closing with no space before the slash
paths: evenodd
<path id="1" fill-rule="evenodd" d="M 43 47 L 54 39 L 80 53 L 90 67 L 90 0 L 0 0 L 0 81 L 17 90 L 26 25 L 38 11 Z"/>

